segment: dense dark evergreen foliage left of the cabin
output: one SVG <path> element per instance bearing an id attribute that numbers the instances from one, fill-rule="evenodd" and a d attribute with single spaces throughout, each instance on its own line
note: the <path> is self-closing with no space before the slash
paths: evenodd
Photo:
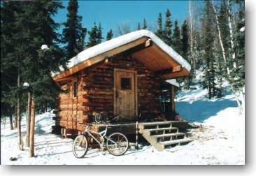
<path id="1" fill-rule="evenodd" d="M 6 96 L 6 103 L 7 100 L 15 100 L 16 96 L 20 96 L 24 111 L 27 98 L 22 95 L 26 90 L 19 84 L 29 82 L 38 110 L 54 108 L 56 94 L 60 89 L 53 82 L 50 73 L 59 71 L 59 65 L 66 63 L 63 50 L 58 46 L 60 38 L 56 30 L 59 24 L 52 20 L 57 9 L 63 8 L 61 2 L 8 1 L 1 3 L 1 7 L 1 41 L 6 43 L 3 47 L 1 45 L 1 76 L 9 79 L 3 82 L 4 85 L 1 84 L 1 88 L 4 88 L 1 89 L 1 94 Z M 44 57 L 40 54 L 43 44 L 50 46 Z M 17 73 L 20 73 L 19 84 Z M 8 83 L 10 80 L 11 85 Z M 10 105 L 15 103 L 12 101 Z"/>

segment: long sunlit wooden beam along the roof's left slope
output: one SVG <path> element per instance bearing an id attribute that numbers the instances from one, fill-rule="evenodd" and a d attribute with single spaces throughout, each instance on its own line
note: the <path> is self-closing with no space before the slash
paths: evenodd
<path id="1" fill-rule="evenodd" d="M 99 61 L 103 61 L 107 57 L 111 57 L 111 56 L 113 56 L 115 54 L 118 54 L 120 52 L 124 52 L 125 50 L 129 50 L 130 48 L 135 47 L 137 45 L 141 45 L 143 43 L 145 45 L 145 41 L 148 41 L 147 37 L 139 38 L 138 40 L 132 41 L 131 43 L 127 43 L 125 45 L 122 45 L 120 47 L 116 47 L 113 50 L 109 50 L 109 51 L 104 52 L 102 54 L 99 54 L 95 57 L 92 57 L 90 59 L 86 59 L 85 61 L 80 62 L 79 64 L 76 64 L 76 66 L 73 66 L 73 67 L 69 68 L 68 70 L 63 71 L 62 73 L 59 73 L 58 75 L 55 75 L 53 77 L 53 80 L 57 80 L 59 78 L 65 78 L 65 77 L 67 77 L 69 75 L 72 75 L 73 73 L 76 73 L 76 72 L 78 72 L 78 71 L 80 71 L 80 70 L 82 70 L 82 69 L 84 69 L 88 66 L 92 66 L 93 64 L 96 64 Z"/>

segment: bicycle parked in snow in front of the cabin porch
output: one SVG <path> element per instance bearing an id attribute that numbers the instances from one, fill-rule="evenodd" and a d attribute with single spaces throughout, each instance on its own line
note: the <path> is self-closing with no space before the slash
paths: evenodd
<path id="1" fill-rule="evenodd" d="M 88 136 L 93 138 L 99 144 L 101 149 L 104 149 L 104 147 L 106 147 L 108 149 L 108 152 L 113 154 L 114 156 L 121 156 L 122 154 L 125 154 L 125 152 L 127 152 L 127 149 L 129 147 L 129 141 L 124 134 L 112 133 L 108 137 L 106 136 L 106 133 L 108 131 L 108 123 L 106 125 L 106 129 L 99 133 L 96 131 L 91 131 L 88 128 L 88 126 L 92 126 L 92 124 L 85 123 L 83 125 L 86 125 L 85 131 L 83 132 L 83 134 L 78 135 L 75 138 L 72 146 L 73 154 L 77 158 L 83 158 L 87 153 L 87 150 L 89 148 L 89 142 L 87 138 Z M 97 135 L 99 137 L 99 140 L 97 140 L 97 138 L 92 134 Z"/>

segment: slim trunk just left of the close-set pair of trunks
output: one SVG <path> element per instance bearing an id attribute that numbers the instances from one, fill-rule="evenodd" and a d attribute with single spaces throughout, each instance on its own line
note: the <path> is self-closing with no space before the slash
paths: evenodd
<path id="1" fill-rule="evenodd" d="M 20 71 L 17 75 L 17 87 L 20 87 Z M 20 93 L 17 94 L 17 135 L 20 150 L 23 150 L 22 133 L 21 133 L 21 116 L 20 116 Z"/>

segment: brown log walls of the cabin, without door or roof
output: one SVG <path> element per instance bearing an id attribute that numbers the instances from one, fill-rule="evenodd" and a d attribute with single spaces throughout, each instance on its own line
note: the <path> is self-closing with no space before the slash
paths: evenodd
<path id="1" fill-rule="evenodd" d="M 76 75 L 73 79 L 78 80 L 76 98 L 72 94 L 73 81 L 62 86 L 70 91 L 59 95 L 59 126 L 83 130 L 83 126 L 76 124 L 76 119 L 88 122 L 92 112 L 107 112 L 113 116 L 114 68 L 137 71 L 138 113 L 152 117 L 161 111 L 159 94 L 163 80 L 131 56 L 118 54 L 108 62 L 95 64 Z"/>

